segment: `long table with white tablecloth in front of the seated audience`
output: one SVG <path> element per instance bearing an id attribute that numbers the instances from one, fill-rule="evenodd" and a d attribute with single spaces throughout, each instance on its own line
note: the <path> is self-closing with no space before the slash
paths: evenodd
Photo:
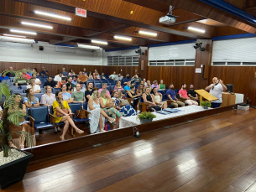
<path id="1" fill-rule="evenodd" d="M 212 108 L 203 109 L 202 106 L 183 106 L 183 107 L 179 107 L 177 109 L 179 109 L 181 112 L 170 113 L 169 115 L 162 115 L 157 112 L 153 112 L 154 115 L 156 116 L 153 119 L 153 122 L 167 119 L 167 118 L 184 116 L 184 115 L 191 114 L 194 112 L 202 112 L 202 111 L 206 111 L 206 110 L 211 110 Z M 141 123 L 137 116 L 123 117 L 123 118 L 120 118 L 120 120 L 119 120 L 119 128 L 133 127 L 133 126 L 137 126 L 140 124 Z"/>

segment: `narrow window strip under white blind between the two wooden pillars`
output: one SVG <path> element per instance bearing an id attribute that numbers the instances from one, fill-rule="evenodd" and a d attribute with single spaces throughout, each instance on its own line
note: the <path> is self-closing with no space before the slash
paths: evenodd
<path id="1" fill-rule="evenodd" d="M 195 66 L 195 60 L 152 60 L 150 66 Z"/>

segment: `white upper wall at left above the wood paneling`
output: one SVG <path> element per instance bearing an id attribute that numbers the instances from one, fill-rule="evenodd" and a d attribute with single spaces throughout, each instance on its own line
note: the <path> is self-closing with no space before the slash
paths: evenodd
<path id="1" fill-rule="evenodd" d="M 39 51 L 44 46 L 44 51 Z M 74 49 L 66 48 L 64 49 Z M 55 52 L 55 45 L 45 42 L 38 44 L 15 44 L 0 42 L 0 61 L 28 62 L 70 65 L 103 65 L 102 49 L 91 52 L 76 49 L 76 54 Z"/>

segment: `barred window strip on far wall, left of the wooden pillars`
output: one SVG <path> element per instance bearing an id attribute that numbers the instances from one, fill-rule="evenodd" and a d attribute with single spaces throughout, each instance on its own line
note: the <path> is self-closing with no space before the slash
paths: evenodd
<path id="1" fill-rule="evenodd" d="M 108 56 L 107 65 L 138 66 L 138 56 Z"/>

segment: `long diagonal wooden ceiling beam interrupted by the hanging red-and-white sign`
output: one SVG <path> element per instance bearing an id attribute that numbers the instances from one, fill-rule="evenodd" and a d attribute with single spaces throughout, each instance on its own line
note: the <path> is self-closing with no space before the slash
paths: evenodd
<path id="1" fill-rule="evenodd" d="M 55 3 L 55 2 L 51 2 L 51 1 L 47 1 L 47 0 L 34 0 L 34 1 L 31 1 L 31 0 L 14 0 L 14 1 L 22 2 L 22 3 L 31 3 L 31 4 L 42 6 L 42 7 L 45 7 L 45 8 L 54 8 L 54 9 L 64 11 L 64 12 L 67 12 L 67 13 L 74 13 L 75 12 L 75 7 L 73 7 L 73 6 L 65 5 L 65 4 L 61 4 L 61 3 Z M 191 39 L 207 38 L 203 34 L 183 32 L 183 31 L 180 31 L 180 30 L 169 29 L 169 28 L 166 28 L 166 27 L 151 25 L 151 24 L 148 24 L 148 23 L 141 23 L 141 22 L 137 22 L 137 21 L 133 21 L 133 20 L 128 20 L 128 19 L 125 19 L 125 18 L 117 18 L 117 17 L 114 17 L 112 15 L 91 12 L 89 10 L 87 10 L 87 17 L 106 19 L 106 20 L 109 20 L 109 21 L 123 23 L 123 24 L 129 25 L 129 26 L 135 26 L 135 27 L 139 27 L 139 28 L 143 28 L 143 29 L 149 29 L 149 30 L 164 32 L 164 33 L 168 33 L 168 34 L 181 35 L 181 36 L 191 38 Z M 208 38 L 211 38 L 211 37 L 209 36 Z"/>

